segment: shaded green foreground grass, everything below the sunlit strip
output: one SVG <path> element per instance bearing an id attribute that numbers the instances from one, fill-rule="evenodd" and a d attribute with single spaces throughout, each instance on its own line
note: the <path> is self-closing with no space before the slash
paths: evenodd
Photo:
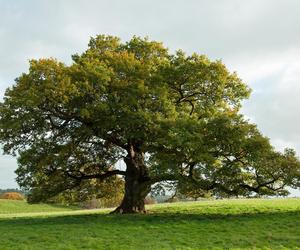
<path id="1" fill-rule="evenodd" d="M 59 215 L 2 218 L 0 234 L 5 249 L 291 249 L 299 222 L 300 211 Z"/>

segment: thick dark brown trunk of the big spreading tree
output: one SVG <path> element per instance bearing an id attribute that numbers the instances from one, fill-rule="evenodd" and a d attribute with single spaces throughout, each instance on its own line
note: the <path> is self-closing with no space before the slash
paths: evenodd
<path id="1" fill-rule="evenodd" d="M 131 147 L 125 158 L 125 194 L 119 207 L 112 213 L 145 213 L 144 199 L 151 190 L 144 154 Z"/>

